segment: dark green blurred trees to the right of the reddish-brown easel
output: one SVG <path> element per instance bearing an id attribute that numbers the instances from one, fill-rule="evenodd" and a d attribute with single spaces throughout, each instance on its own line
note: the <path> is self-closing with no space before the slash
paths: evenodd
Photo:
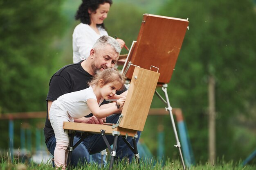
<path id="1" fill-rule="evenodd" d="M 255 113 L 255 4 L 169 0 L 159 15 L 190 21 L 168 93 L 172 107 L 183 110 L 196 160 L 208 159 L 209 75 L 217 82 L 217 156 L 236 161 L 247 157 L 248 141 L 237 137 L 234 126 L 238 114 Z"/>

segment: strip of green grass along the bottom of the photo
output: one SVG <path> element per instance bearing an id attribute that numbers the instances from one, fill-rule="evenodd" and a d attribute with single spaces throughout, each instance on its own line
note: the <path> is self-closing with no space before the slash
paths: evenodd
<path id="1" fill-rule="evenodd" d="M 19 162 L 18 158 L 14 158 L 12 161 L 7 156 L 0 157 L 0 170 L 55 170 L 52 167 L 51 160 L 49 163 L 35 164 L 28 161 L 24 163 Z M 241 166 L 240 162 L 225 162 L 224 160 L 219 161 L 215 165 L 209 163 L 199 163 L 196 166 L 187 167 L 187 170 L 256 170 L 256 165 Z M 109 167 L 100 168 L 96 164 L 88 164 L 74 168 L 72 170 L 107 170 Z M 59 168 L 60 169 L 60 168 Z M 143 162 L 138 165 L 135 162 L 128 163 L 127 161 L 121 161 L 119 164 L 113 166 L 113 170 L 183 170 L 180 161 L 167 160 L 165 165 L 162 166 L 162 162 L 154 163 L 153 161 Z"/>

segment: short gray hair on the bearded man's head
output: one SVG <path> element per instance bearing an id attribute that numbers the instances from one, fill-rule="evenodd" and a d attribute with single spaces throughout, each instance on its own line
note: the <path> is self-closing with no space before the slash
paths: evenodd
<path id="1" fill-rule="evenodd" d="M 110 45 L 115 50 L 115 52 L 120 54 L 121 47 L 118 41 L 115 38 L 110 37 L 108 35 L 103 35 L 99 39 L 97 39 L 97 41 L 95 42 L 92 48 L 94 50 L 103 50 L 104 47 L 107 45 Z"/>

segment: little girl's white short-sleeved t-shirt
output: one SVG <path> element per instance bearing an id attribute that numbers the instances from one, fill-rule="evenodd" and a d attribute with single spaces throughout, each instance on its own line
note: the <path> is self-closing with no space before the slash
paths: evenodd
<path id="1" fill-rule="evenodd" d="M 92 113 L 87 105 L 87 100 L 90 98 L 97 101 L 97 97 L 95 96 L 91 86 L 87 89 L 63 94 L 57 98 L 56 102 L 59 104 L 61 103 L 71 118 L 79 119 Z M 99 105 L 103 100 L 104 99 L 101 98 Z"/>

